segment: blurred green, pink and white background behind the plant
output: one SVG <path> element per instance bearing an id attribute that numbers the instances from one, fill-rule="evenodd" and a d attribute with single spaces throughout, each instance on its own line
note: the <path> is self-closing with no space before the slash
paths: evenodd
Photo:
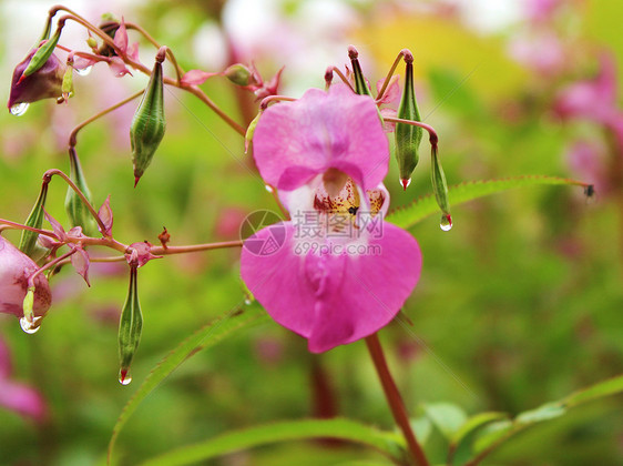
<path id="1" fill-rule="evenodd" d="M 592 202 L 578 188 L 521 189 L 455 206 L 449 233 L 440 231 L 437 216 L 411 229 L 425 257 L 405 308 L 412 326 L 390 325 L 381 340 L 413 417 L 423 403 L 436 402 L 468 414 L 517 414 L 623 372 L 620 0 L 119 0 L 105 10 L 95 3 L 65 2 L 93 22 L 110 11 L 143 26 L 186 70 L 221 71 L 253 60 L 269 79 L 285 65 L 279 89 L 294 97 L 323 87 L 326 67 L 346 64 L 350 43 L 370 82 L 409 48 L 420 111 L 440 135 L 449 184 L 527 174 L 595 184 Z M 4 101 L 12 69 L 40 37 L 52 4 L 0 3 Z M 85 38 L 70 23 L 61 43 L 84 48 Z M 146 64 L 154 53 L 141 42 Z M 141 89 L 146 78 L 118 79 L 99 65 L 74 81 L 68 105 L 50 100 L 19 118 L 0 114 L 0 217 L 24 220 L 42 173 L 69 170 L 71 129 Z M 224 79 L 203 88 L 237 121 L 253 118 L 253 100 Z M 173 244 L 232 240 L 245 215 L 276 210 L 242 138 L 177 90 L 166 92 L 166 136 L 133 189 L 133 111 L 129 104 L 90 125 L 78 143 L 95 204 L 111 195 L 121 241 L 156 243 L 163 225 Z M 392 207 L 429 194 L 429 173 L 423 156 L 402 192 L 392 161 L 386 181 Z M 64 194 L 54 180 L 49 211 L 67 224 Z M 19 239 L 16 232 L 4 236 Z M 70 267 L 57 275 L 54 305 L 35 335 L 0 316 L 10 378 L 37 391 L 45 408 L 44 415 L 28 415 L 0 407 L 2 465 L 103 464 L 116 417 L 151 368 L 244 301 L 235 250 L 151 262 L 140 273 L 145 322 L 134 382 L 123 387 L 116 331 L 126 270 L 93 264 L 91 283 L 88 288 Z M 318 389 L 321 383 L 330 396 Z M 302 338 L 268 323 L 196 355 L 166 379 L 122 432 L 120 463 L 136 464 L 229 428 L 334 414 L 391 426 L 365 345 L 312 357 Z M 592 403 L 530 429 L 486 464 L 623 464 L 622 416 L 621 397 Z M 438 433 L 427 449 L 433 462 L 443 460 Z M 378 457 L 358 447 L 292 443 L 214 464 Z"/>

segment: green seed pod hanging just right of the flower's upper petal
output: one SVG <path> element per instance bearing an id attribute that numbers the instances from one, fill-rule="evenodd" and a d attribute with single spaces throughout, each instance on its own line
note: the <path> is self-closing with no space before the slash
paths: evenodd
<path id="1" fill-rule="evenodd" d="M 421 121 L 416 92 L 413 89 L 413 55 L 408 50 L 404 51 L 405 58 L 405 91 L 398 108 L 398 118 L 402 120 Z M 406 123 L 396 123 L 396 159 L 400 173 L 400 183 L 407 190 L 411 173 L 419 161 L 419 146 L 423 130 Z"/>

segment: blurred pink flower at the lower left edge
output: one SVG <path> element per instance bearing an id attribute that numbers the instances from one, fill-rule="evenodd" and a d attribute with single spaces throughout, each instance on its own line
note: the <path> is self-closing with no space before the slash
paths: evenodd
<path id="1" fill-rule="evenodd" d="M 0 406 L 41 423 L 47 416 L 45 402 L 41 394 L 28 385 L 9 379 L 11 353 L 0 337 Z"/>

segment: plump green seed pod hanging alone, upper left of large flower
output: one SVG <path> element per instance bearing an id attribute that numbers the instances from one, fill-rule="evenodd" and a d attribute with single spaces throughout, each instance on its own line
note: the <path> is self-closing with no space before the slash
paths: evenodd
<path id="1" fill-rule="evenodd" d="M 162 77 L 162 62 L 165 53 L 166 48 L 164 47 L 157 51 L 150 82 L 130 126 L 134 186 L 150 165 L 166 129 Z"/>

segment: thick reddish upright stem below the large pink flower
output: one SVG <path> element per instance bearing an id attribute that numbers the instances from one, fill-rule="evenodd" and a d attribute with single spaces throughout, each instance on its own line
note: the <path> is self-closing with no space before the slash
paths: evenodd
<path id="1" fill-rule="evenodd" d="M 389 367 L 387 366 L 387 361 L 385 359 L 385 354 L 382 353 L 378 335 L 375 333 L 368 336 L 366 338 L 366 345 L 368 346 L 368 351 L 372 362 L 375 363 L 375 368 L 377 369 L 377 374 L 380 378 L 394 419 L 405 435 L 411 457 L 413 458 L 416 465 L 428 466 L 428 459 L 426 458 L 422 447 L 416 439 L 416 435 L 413 434 L 413 429 L 409 423 L 409 416 L 407 415 L 407 409 L 405 408 L 405 402 L 402 401 L 400 392 L 396 386 L 396 382 L 394 382 Z"/>

